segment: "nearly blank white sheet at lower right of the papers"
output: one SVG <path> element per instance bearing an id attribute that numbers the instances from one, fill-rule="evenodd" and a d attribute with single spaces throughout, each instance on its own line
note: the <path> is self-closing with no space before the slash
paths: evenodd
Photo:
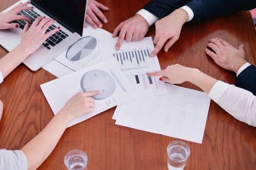
<path id="1" fill-rule="evenodd" d="M 211 99 L 206 93 L 167 84 L 168 95 L 125 102 L 116 124 L 202 143 Z"/>

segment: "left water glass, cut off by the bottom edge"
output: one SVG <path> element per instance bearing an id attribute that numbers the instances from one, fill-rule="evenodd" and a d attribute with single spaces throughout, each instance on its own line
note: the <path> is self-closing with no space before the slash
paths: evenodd
<path id="1" fill-rule="evenodd" d="M 64 163 L 68 170 L 86 170 L 88 157 L 84 151 L 72 150 L 64 157 Z"/>

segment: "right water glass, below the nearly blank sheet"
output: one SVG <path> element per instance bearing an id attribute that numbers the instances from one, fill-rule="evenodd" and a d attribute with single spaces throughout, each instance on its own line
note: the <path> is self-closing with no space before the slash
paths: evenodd
<path id="1" fill-rule="evenodd" d="M 189 156 L 190 147 L 185 142 L 171 142 L 167 147 L 168 170 L 183 170 Z"/>

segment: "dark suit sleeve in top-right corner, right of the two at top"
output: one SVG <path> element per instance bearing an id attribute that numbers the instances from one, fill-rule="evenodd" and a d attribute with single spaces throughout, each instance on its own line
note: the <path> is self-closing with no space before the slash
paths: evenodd
<path id="1" fill-rule="evenodd" d="M 185 5 L 194 13 L 192 20 L 202 20 L 254 9 L 256 0 L 191 0 Z"/>

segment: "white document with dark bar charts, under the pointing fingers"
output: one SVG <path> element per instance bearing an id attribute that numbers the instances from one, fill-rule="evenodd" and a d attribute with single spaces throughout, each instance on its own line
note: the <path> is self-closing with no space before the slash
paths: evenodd
<path id="1" fill-rule="evenodd" d="M 138 42 L 123 42 L 119 51 L 115 50 L 117 39 L 100 41 L 101 58 L 114 58 L 140 97 L 167 94 L 166 85 L 159 77 L 147 76 L 147 72 L 161 70 L 158 58 L 150 57 L 154 44 L 151 37 Z"/>

